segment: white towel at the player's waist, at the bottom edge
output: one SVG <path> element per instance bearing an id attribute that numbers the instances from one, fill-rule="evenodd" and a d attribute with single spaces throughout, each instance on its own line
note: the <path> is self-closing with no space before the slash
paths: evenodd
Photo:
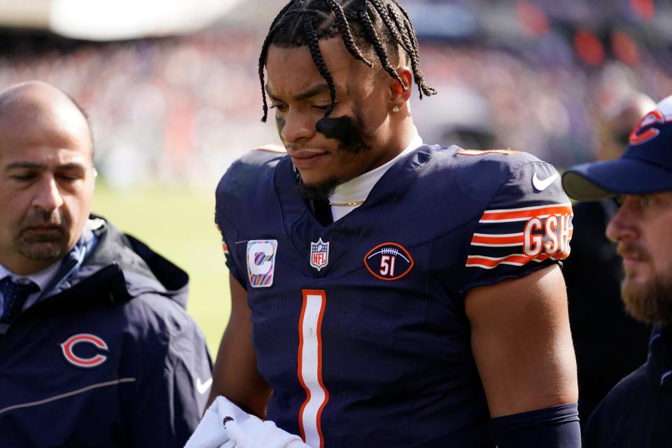
<path id="1" fill-rule="evenodd" d="M 270 420 L 247 414 L 219 396 L 208 408 L 185 448 L 310 448 Z"/>

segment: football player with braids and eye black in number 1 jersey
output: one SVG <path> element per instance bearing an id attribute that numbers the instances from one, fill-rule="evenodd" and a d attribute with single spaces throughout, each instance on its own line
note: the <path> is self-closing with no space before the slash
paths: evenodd
<path id="1" fill-rule="evenodd" d="M 217 188 L 214 395 L 316 448 L 579 446 L 554 167 L 423 144 L 412 83 L 436 92 L 395 0 L 290 1 L 259 73 L 286 152 Z"/>

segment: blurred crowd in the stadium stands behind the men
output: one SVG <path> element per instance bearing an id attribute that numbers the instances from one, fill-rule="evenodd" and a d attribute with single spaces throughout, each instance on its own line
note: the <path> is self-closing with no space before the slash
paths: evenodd
<path id="1" fill-rule="evenodd" d="M 14 26 L 0 2 L 0 88 L 38 78 L 76 98 L 93 123 L 99 172 L 115 188 L 211 190 L 241 153 L 277 141 L 260 123 L 257 61 L 281 3 L 237 3 L 200 30 L 99 41 Z M 667 0 L 402 5 L 439 90 L 413 99 L 427 142 L 516 148 L 561 169 L 593 157 L 596 120 L 623 94 L 672 94 Z"/>

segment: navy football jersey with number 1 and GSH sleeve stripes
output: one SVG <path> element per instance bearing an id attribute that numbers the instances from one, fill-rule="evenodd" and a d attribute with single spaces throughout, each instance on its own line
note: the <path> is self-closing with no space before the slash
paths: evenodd
<path id="1" fill-rule="evenodd" d="M 568 255 L 554 167 L 422 146 L 327 227 L 296 183 L 287 155 L 253 151 L 216 193 L 268 418 L 315 448 L 493 447 L 464 297 Z"/>

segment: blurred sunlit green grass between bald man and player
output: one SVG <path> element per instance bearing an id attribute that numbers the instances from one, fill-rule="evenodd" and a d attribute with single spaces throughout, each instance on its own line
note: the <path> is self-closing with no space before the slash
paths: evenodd
<path id="1" fill-rule="evenodd" d="M 188 312 L 215 356 L 230 313 L 228 270 L 214 224 L 214 188 L 146 187 L 113 190 L 99 182 L 93 211 L 185 269 L 191 278 Z"/>

